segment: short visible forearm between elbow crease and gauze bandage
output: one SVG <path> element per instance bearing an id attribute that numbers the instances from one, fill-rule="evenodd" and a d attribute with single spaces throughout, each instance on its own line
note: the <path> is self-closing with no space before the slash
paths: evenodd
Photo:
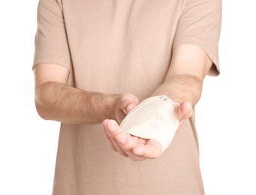
<path id="1" fill-rule="evenodd" d="M 171 100 L 182 103 L 190 101 L 192 106 L 200 99 L 203 80 L 192 75 L 183 74 L 167 78 L 152 95 L 167 95 Z"/>

